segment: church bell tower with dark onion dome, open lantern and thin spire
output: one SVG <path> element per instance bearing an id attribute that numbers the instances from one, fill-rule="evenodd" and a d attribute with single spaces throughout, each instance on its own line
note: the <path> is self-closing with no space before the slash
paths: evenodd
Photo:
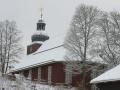
<path id="1" fill-rule="evenodd" d="M 27 46 L 27 55 L 34 53 L 37 51 L 40 46 L 49 39 L 49 36 L 45 33 L 46 23 L 43 20 L 43 14 L 41 9 L 41 17 L 37 22 L 37 30 L 31 36 L 32 44 Z"/>

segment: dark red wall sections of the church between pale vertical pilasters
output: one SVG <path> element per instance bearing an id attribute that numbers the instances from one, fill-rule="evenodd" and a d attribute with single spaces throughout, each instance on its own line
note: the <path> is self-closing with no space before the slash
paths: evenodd
<path id="1" fill-rule="evenodd" d="M 41 68 L 41 79 L 39 80 L 40 82 L 45 82 L 46 84 L 48 83 L 48 67 L 51 66 L 51 83 L 52 85 L 66 85 L 65 78 L 66 78 L 66 72 L 65 72 L 65 64 L 63 62 L 54 62 L 51 64 L 45 64 L 37 67 L 33 67 L 27 70 L 23 70 L 23 74 L 25 77 L 28 77 L 28 74 L 31 70 L 31 79 L 32 81 L 36 81 L 39 78 L 39 67 Z M 78 87 L 81 84 L 83 75 L 82 74 L 72 74 L 72 82 L 71 85 Z M 90 72 L 86 73 L 85 76 L 85 83 L 86 83 L 86 90 L 91 90 L 91 86 L 89 84 L 90 82 Z"/>

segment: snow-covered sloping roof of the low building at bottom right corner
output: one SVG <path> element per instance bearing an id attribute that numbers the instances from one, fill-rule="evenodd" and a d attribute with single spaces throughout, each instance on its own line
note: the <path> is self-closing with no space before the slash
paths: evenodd
<path id="1" fill-rule="evenodd" d="M 90 83 L 102 83 L 120 80 L 120 65 L 108 70 L 97 78 L 91 80 Z"/>

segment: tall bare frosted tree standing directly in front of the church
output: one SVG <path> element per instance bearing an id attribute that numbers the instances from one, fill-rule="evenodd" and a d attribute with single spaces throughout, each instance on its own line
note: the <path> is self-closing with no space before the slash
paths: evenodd
<path id="1" fill-rule="evenodd" d="M 86 61 L 93 58 L 90 55 L 90 51 L 94 47 L 94 43 L 96 43 L 99 30 L 97 22 L 101 16 L 100 13 L 96 7 L 80 5 L 75 12 L 70 30 L 65 39 L 64 46 L 67 49 L 65 59 L 82 61 L 82 64 L 77 66 L 78 68 L 82 66 L 83 73 L 80 90 L 86 90 Z"/>

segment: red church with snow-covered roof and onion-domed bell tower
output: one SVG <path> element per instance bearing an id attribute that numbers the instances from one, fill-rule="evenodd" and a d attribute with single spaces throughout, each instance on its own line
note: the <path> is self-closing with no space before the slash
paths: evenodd
<path id="1" fill-rule="evenodd" d="M 73 70 L 70 64 L 66 64 L 64 59 L 66 50 L 63 47 L 62 37 L 50 38 L 45 33 L 45 26 L 46 23 L 41 15 L 41 19 L 37 22 L 37 30 L 31 37 L 32 43 L 27 46 L 27 55 L 12 70 L 12 73 L 23 75 L 41 84 L 78 87 L 82 82 L 82 74 L 74 73 L 77 70 Z M 96 65 L 91 62 L 88 64 Z M 85 76 L 87 90 L 91 90 L 90 79 L 90 72 L 87 72 Z"/>

